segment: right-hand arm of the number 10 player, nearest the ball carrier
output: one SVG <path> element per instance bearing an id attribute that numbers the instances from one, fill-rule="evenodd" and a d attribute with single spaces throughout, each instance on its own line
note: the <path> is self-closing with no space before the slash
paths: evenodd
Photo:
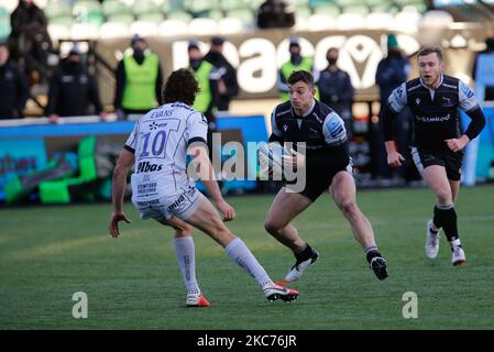
<path id="1" fill-rule="evenodd" d="M 235 209 L 224 201 L 223 196 L 221 196 L 207 148 L 205 145 L 190 145 L 189 154 L 194 157 L 194 167 L 200 180 L 215 200 L 218 210 L 223 213 L 223 221 L 233 220 L 237 217 Z"/>

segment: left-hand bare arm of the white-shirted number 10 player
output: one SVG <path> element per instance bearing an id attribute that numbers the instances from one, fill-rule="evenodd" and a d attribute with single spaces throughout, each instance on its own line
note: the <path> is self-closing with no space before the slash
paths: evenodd
<path id="1" fill-rule="evenodd" d="M 113 183 L 111 187 L 111 196 L 113 202 L 113 212 L 110 218 L 109 232 L 112 238 L 120 235 L 119 221 L 130 223 L 123 212 L 123 196 L 125 193 L 127 175 L 131 166 L 134 164 L 134 154 L 128 150 L 123 150 L 113 170 Z"/>

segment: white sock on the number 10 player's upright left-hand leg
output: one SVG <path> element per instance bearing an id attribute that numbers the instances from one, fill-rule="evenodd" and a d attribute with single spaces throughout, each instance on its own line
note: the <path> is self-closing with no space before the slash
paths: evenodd
<path id="1" fill-rule="evenodd" d="M 196 279 L 196 249 L 193 237 L 177 238 L 174 240 L 175 253 L 178 266 L 184 277 L 185 288 L 188 294 L 200 294 Z"/>

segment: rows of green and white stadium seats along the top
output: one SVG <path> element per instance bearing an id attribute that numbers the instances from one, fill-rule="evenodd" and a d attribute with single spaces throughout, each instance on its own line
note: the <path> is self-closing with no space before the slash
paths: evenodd
<path id="1" fill-rule="evenodd" d="M 63 0 L 35 0 L 43 8 L 51 33 L 55 38 L 80 38 L 83 24 L 88 26 L 88 38 L 128 36 L 138 30 L 146 35 L 211 35 L 242 33 L 255 28 L 255 15 L 263 0 L 75 0 L 73 6 Z M 430 26 L 433 21 L 447 25 L 444 15 L 428 15 L 424 0 L 287 0 L 295 9 L 296 31 L 389 29 L 393 24 L 410 31 L 411 25 Z M 10 13 L 15 1 L 0 0 L 0 40 L 10 33 Z M 414 11 L 409 11 L 413 9 Z M 410 13 L 413 12 L 413 14 Z M 429 18 L 433 20 L 429 20 Z M 195 21 L 195 19 L 204 19 Z M 328 20 L 323 23 L 325 19 Z M 185 31 L 182 22 L 188 25 Z M 212 22 L 216 22 L 212 24 Z M 356 21 L 356 22 L 355 22 Z M 411 22 L 410 22 L 411 21 Z M 101 31 L 101 25 L 108 31 Z M 119 24 L 117 24 L 119 23 Z M 172 29 L 176 23 L 178 28 Z M 242 23 L 242 25 L 240 25 Z M 413 24 L 411 24 L 413 23 Z M 94 25 L 92 25 L 94 24 Z M 231 32 L 229 32 L 231 26 Z M 96 30 L 98 28 L 98 30 Z M 127 30 L 123 30 L 127 28 Z M 56 31 L 61 31 L 56 33 Z M 68 36 L 67 37 L 67 31 Z M 75 35 L 72 37 L 72 35 Z"/>

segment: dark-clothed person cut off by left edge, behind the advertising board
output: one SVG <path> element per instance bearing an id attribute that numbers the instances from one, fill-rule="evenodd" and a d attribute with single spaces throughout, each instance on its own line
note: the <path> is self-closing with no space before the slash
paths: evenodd
<path id="1" fill-rule="evenodd" d="M 9 59 L 9 48 L 3 43 L 0 43 L 0 119 L 22 118 L 29 97 L 28 79 Z"/>

